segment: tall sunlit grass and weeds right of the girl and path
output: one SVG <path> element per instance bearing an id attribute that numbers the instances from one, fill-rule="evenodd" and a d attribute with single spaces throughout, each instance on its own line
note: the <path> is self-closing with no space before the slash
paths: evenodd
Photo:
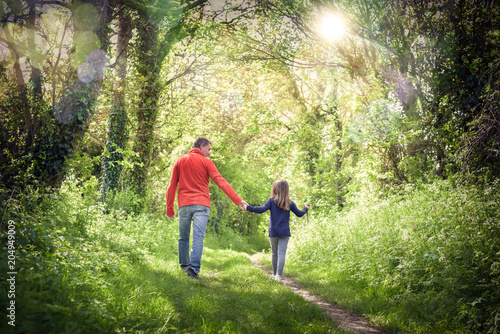
<path id="1" fill-rule="evenodd" d="M 410 333 L 500 331 L 500 180 L 450 181 L 294 226 L 287 271 Z"/>

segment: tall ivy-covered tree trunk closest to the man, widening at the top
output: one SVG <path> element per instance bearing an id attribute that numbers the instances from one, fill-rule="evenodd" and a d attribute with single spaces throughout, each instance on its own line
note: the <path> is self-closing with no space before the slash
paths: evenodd
<path id="1" fill-rule="evenodd" d="M 137 159 L 131 171 L 130 184 L 140 196 L 145 195 L 146 178 L 154 146 L 158 100 L 163 88 L 160 84 L 163 60 L 177 41 L 196 29 L 195 22 L 189 20 L 189 14 L 205 2 L 206 0 L 180 4 L 164 2 L 152 9 L 146 3 L 129 3 L 137 11 L 134 20 L 138 34 L 134 41 L 135 65 L 142 81 L 133 145 Z"/>

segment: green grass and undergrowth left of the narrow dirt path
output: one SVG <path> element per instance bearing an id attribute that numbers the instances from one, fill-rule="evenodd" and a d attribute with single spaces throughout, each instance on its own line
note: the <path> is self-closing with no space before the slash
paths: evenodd
<path id="1" fill-rule="evenodd" d="M 16 250 L 16 327 L 3 320 L 2 333 L 342 333 L 252 266 L 247 254 L 267 247 L 262 235 L 209 228 L 193 280 L 178 266 L 177 223 L 104 214 L 80 189 L 32 193 L 35 207 L 11 211 L 24 246 Z"/>

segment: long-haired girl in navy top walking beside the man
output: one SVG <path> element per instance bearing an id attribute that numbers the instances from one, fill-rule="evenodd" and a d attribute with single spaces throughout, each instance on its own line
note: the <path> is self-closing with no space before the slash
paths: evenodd
<path id="1" fill-rule="evenodd" d="M 274 278 L 281 282 L 281 274 L 285 266 L 286 247 L 290 238 L 290 211 L 297 217 L 302 217 L 309 210 L 304 205 L 304 210 L 299 210 L 290 199 L 288 183 L 285 180 L 275 181 L 271 187 L 271 198 L 263 206 L 246 206 L 250 212 L 263 213 L 271 210 L 269 219 L 269 239 L 271 241 L 272 264 Z"/>

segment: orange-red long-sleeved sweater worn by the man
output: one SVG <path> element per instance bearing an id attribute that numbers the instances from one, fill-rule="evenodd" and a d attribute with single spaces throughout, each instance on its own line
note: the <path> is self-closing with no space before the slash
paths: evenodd
<path id="1" fill-rule="evenodd" d="M 170 185 L 167 189 L 167 216 L 173 216 L 175 191 L 179 207 L 186 205 L 205 205 L 210 207 L 208 184 L 211 178 L 224 191 L 234 204 L 241 198 L 231 185 L 220 175 L 212 160 L 203 156 L 199 149 L 192 149 L 180 157 L 174 165 Z"/>

